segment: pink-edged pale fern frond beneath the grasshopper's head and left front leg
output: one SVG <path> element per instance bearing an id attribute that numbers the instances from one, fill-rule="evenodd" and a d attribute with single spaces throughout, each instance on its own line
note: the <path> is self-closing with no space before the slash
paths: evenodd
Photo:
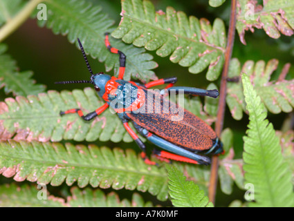
<path id="1" fill-rule="evenodd" d="M 115 113 L 107 110 L 90 122 L 85 122 L 77 114 L 60 116 L 59 111 L 81 108 L 84 113 L 95 111 L 104 102 L 92 88 L 50 90 L 38 96 L 6 98 L 0 102 L 0 140 L 51 140 L 131 142 L 132 139 Z M 203 111 L 198 97 L 185 98 L 185 108 L 212 124 L 216 117 Z M 131 124 L 132 126 L 132 124 Z M 141 137 L 143 140 L 145 138 Z"/>

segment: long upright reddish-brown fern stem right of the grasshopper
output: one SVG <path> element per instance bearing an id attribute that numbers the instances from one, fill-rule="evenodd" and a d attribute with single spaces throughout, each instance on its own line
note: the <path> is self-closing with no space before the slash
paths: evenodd
<path id="1" fill-rule="evenodd" d="M 230 58 L 232 56 L 232 48 L 235 39 L 235 26 L 236 26 L 236 0 L 232 0 L 230 12 L 230 25 L 228 30 L 228 44 L 225 53 L 225 64 L 223 65 L 223 73 L 221 74 L 221 88 L 219 96 L 219 110 L 217 112 L 217 122 L 215 124 L 215 132 L 217 136 L 221 136 L 223 129 L 223 119 L 226 111 L 226 94 L 227 94 L 227 77 L 230 66 Z M 219 158 L 217 155 L 212 157 L 212 166 L 210 169 L 210 186 L 208 187 L 208 196 L 210 202 L 214 204 L 215 193 L 217 189 L 217 171 L 219 169 Z"/>

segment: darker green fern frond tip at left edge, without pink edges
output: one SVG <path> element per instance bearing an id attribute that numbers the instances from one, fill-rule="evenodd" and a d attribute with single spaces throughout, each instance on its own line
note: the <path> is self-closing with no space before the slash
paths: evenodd
<path id="1" fill-rule="evenodd" d="M 0 45 L 0 88 L 4 88 L 6 94 L 12 92 L 13 95 L 37 95 L 44 92 L 46 86 L 35 84 L 35 80 L 30 79 L 33 73 L 30 71 L 19 72 L 15 60 L 10 55 L 6 55 L 7 47 Z"/>

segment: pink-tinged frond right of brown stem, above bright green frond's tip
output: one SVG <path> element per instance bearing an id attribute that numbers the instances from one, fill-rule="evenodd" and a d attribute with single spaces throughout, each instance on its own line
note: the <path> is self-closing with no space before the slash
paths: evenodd
<path id="1" fill-rule="evenodd" d="M 246 61 L 241 69 L 238 59 L 232 59 L 230 63 L 229 77 L 239 77 L 240 73 L 246 73 L 254 85 L 261 102 L 271 113 L 291 112 L 294 107 L 294 79 L 270 81 L 270 76 L 276 70 L 279 61 L 271 59 L 265 61 Z M 242 119 L 243 111 L 246 111 L 241 81 L 228 82 L 228 96 L 226 102 L 235 119 Z"/>

